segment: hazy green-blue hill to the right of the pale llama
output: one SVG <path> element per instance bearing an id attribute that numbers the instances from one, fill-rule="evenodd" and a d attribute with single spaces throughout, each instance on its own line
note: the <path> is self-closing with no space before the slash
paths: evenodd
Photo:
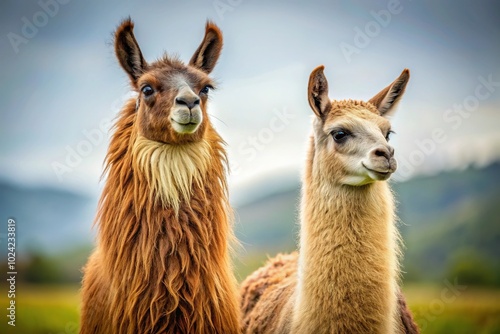
<path id="1" fill-rule="evenodd" d="M 453 279 L 467 265 L 471 283 L 500 283 L 499 184 L 496 163 L 395 187 L 408 278 Z"/>

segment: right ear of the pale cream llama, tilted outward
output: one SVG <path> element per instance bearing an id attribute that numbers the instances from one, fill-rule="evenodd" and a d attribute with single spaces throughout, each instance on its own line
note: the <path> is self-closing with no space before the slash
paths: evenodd
<path id="1" fill-rule="evenodd" d="M 405 92 L 409 79 L 410 70 L 405 68 L 393 83 L 382 89 L 380 93 L 372 97 L 368 102 L 373 104 L 382 116 L 392 116 L 396 112 L 396 106 Z"/>

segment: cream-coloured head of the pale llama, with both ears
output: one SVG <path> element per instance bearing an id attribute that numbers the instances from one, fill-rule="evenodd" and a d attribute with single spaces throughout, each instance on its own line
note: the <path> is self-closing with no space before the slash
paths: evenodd
<path id="1" fill-rule="evenodd" d="M 360 186 L 387 180 L 396 170 L 387 116 L 395 111 L 410 72 L 405 69 L 368 102 L 332 101 L 319 66 L 309 77 L 308 100 L 314 111 L 315 169 L 330 182 Z"/>

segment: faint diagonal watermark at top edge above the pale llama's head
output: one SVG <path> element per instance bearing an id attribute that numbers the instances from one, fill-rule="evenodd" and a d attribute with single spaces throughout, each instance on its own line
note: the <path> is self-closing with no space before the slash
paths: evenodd
<path id="1" fill-rule="evenodd" d="M 411 0 L 408 0 L 411 1 Z M 379 11 L 370 11 L 370 16 L 373 20 L 366 22 L 363 28 L 354 27 L 354 37 L 351 43 L 342 42 L 339 47 L 344 55 L 345 60 L 349 64 L 352 57 L 367 48 L 373 39 L 377 38 L 384 28 L 387 28 L 392 22 L 394 16 L 403 11 L 403 5 L 399 0 L 389 0 L 386 9 Z"/>

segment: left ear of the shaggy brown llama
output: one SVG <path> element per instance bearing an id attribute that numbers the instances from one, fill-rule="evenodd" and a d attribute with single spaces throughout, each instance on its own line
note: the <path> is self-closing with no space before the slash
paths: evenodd
<path id="1" fill-rule="evenodd" d="M 124 20 L 115 32 L 115 53 L 120 65 L 129 75 L 132 83 L 143 73 L 147 66 L 134 33 L 134 23 L 130 17 Z"/>

